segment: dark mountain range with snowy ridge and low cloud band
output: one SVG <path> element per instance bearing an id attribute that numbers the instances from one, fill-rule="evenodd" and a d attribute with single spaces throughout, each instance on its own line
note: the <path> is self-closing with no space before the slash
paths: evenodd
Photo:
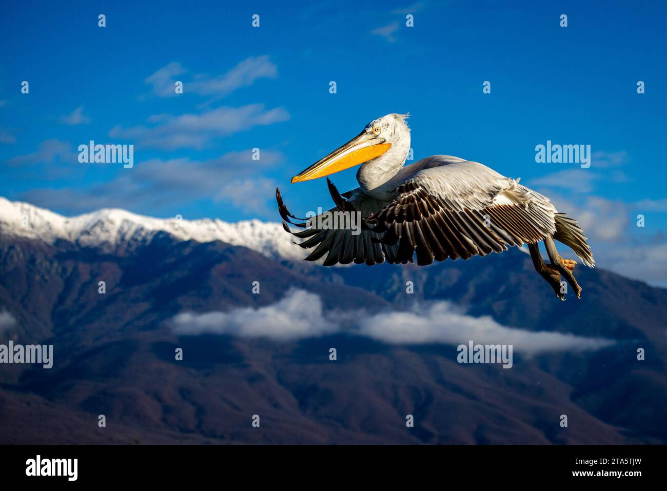
<path id="1" fill-rule="evenodd" d="M 560 302 L 518 250 L 323 268 L 291 239 L 0 198 L 0 344 L 54 358 L 0 365 L 0 442 L 667 442 L 667 290 L 578 266 Z"/>

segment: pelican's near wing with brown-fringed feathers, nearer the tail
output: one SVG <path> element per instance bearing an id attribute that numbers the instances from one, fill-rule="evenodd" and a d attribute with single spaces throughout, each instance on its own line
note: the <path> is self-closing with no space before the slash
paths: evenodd
<path id="1" fill-rule="evenodd" d="M 398 244 L 396 262 L 414 253 L 420 265 L 486 256 L 556 232 L 548 198 L 481 163 L 431 157 L 414 165 L 394 201 L 367 220 L 384 244 Z"/>

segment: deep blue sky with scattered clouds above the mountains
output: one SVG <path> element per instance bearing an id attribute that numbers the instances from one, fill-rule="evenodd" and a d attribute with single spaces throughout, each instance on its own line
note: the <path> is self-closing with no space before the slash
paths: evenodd
<path id="1" fill-rule="evenodd" d="M 0 195 L 65 214 L 276 220 L 277 185 L 303 215 L 331 201 L 323 179 L 292 175 L 409 111 L 416 160 L 521 177 L 581 217 L 606 267 L 632 276 L 640 246 L 662 265 L 642 275 L 667 278 L 664 2 L 240 4 L 4 2 Z M 133 144 L 134 167 L 79 163 L 91 139 Z M 536 163 L 548 139 L 591 145 L 591 167 Z"/>

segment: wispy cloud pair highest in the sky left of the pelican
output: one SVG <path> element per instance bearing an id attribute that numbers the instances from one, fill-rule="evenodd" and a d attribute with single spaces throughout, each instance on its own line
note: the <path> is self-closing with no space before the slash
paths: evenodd
<path id="1" fill-rule="evenodd" d="M 153 94 L 158 97 L 173 97 L 175 82 L 179 75 L 187 73 L 180 63 L 169 63 L 145 79 L 153 87 Z M 193 75 L 190 80 L 183 80 L 183 93 L 198 95 L 215 95 L 224 97 L 241 87 L 248 87 L 256 80 L 266 78 L 275 79 L 278 76 L 277 67 L 267 55 L 244 59 L 227 71 L 224 75 L 211 77 L 205 74 Z"/>

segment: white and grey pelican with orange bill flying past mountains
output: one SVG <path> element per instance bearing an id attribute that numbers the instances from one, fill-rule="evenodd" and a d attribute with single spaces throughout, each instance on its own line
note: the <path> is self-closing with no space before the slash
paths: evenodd
<path id="1" fill-rule="evenodd" d="M 410 150 L 407 117 L 388 114 L 371 121 L 348 143 L 291 179 L 308 181 L 362 164 L 357 171 L 359 187 L 352 191 L 341 195 L 327 178 L 336 203 L 328 213 L 358 213 L 363 226 L 357 235 L 350 227 L 316 227 L 313 223 L 323 222 L 295 217 L 275 190 L 285 230 L 305 239 L 301 248 L 315 248 L 305 260 L 319 260 L 328 253 L 325 266 L 352 262 L 372 266 L 385 259 L 406 264 L 416 254 L 422 266 L 434 260 L 486 256 L 526 243 L 535 269 L 556 296 L 565 300 L 562 275 L 581 298 L 572 274 L 577 263 L 561 258 L 554 243 L 556 239 L 566 244 L 593 268 L 593 254 L 577 221 L 556 211 L 548 197 L 521 185 L 519 179 L 478 162 L 434 155 L 404 167 Z M 285 221 L 305 230 L 292 231 Z M 550 264 L 542 259 L 540 241 Z"/>

